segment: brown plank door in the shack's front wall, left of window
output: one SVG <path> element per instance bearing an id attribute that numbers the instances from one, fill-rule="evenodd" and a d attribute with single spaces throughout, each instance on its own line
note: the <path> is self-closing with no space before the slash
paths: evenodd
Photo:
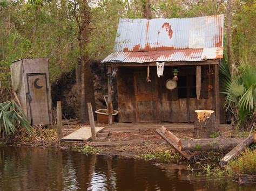
<path id="1" fill-rule="evenodd" d="M 147 68 L 133 73 L 137 122 L 159 122 L 159 100 L 156 71 L 151 68 L 151 82 L 146 81 Z"/>

